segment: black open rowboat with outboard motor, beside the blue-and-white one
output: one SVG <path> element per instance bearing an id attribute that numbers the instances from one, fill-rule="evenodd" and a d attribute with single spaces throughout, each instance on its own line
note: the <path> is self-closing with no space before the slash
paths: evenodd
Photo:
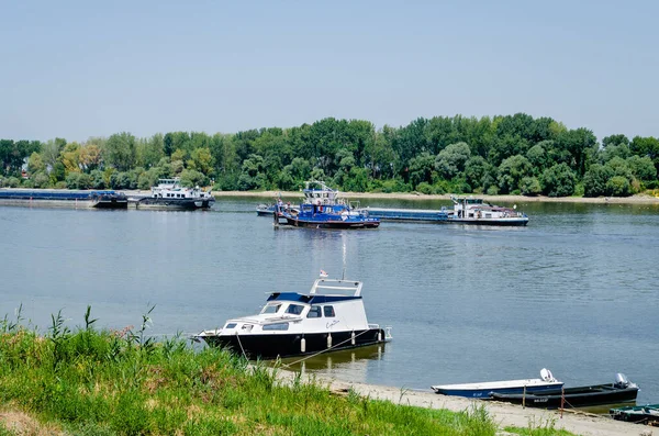
<path id="1" fill-rule="evenodd" d="M 621 404 L 636 401 L 638 387 L 618 373 L 616 381 L 607 384 L 592 384 L 577 388 L 551 389 L 541 392 L 500 393 L 492 392 L 495 401 L 524 404 L 528 407 L 572 409 L 604 404 Z"/>

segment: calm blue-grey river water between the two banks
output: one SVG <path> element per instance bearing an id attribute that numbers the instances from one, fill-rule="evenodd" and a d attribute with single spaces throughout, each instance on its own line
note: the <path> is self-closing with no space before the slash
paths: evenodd
<path id="1" fill-rule="evenodd" d="M 208 212 L 0 208 L 0 316 L 41 331 L 59 310 L 102 327 L 197 333 L 256 313 L 319 271 L 364 282 L 383 347 L 322 356 L 305 371 L 401 389 L 537 377 L 566 385 L 624 372 L 659 402 L 659 208 L 521 203 L 527 227 L 383 223 L 372 231 L 273 228 L 259 199 Z M 438 209 L 443 201 L 361 201 Z M 511 204 L 507 204 L 511 205 Z M 299 368 L 298 364 L 295 368 Z"/>

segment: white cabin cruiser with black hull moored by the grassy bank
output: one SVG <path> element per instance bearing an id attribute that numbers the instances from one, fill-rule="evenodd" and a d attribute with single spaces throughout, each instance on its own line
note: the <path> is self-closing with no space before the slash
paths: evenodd
<path id="1" fill-rule="evenodd" d="M 370 324 L 354 280 L 315 280 L 309 293 L 272 292 L 259 314 L 226 321 L 194 339 L 250 359 L 313 355 L 383 344 L 390 328 Z"/>

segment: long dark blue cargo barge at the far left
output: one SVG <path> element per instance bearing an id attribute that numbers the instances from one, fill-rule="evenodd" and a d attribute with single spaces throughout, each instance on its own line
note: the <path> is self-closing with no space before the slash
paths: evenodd
<path id="1" fill-rule="evenodd" d="M 129 199 L 114 190 L 0 189 L 0 204 L 127 209 Z"/>

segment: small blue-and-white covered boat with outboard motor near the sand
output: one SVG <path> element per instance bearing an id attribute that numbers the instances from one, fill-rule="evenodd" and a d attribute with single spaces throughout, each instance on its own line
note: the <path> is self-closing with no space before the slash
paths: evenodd
<path id="1" fill-rule="evenodd" d="M 474 399 L 489 399 L 492 392 L 498 393 L 523 393 L 543 392 L 546 390 L 560 389 L 562 381 L 558 381 L 547 368 L 540 370 L 539 379 L 487 381 L 480 383 L 439 384 L 431 387 L 435 393 L 454 396 L 467 396 Z"/>

